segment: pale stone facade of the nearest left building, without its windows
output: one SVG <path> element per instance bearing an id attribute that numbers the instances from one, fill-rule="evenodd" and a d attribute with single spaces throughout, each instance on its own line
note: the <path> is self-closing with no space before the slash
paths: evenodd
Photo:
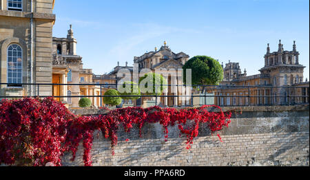
<path id="1" fill-rule="evenodd" d="M 7 0 L 0 3 L 0 82 L 8 82 L 8 47 L 15 44 L 19 45 L 23 52 L 21 82 L 52 83 L 54 0 L 37 0 L 33 1 L 32 5 L 31 1 L 23 0 L 18 9 L 12 9 L 7 5 Z M 1 95 L 5 88 L 7 85 L 1 86 Z M 34 86 L 19 88 L 17 91 L 23 91 L 23 95 L 36 93 Z M 40 95 L 52 95 L 52 87 L 41 87 Z"/>

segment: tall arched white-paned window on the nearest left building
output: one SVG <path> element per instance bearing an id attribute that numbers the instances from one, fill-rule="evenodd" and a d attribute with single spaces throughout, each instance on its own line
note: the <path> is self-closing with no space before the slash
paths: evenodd
<path id="1" fill-rule="evenodd" d="M 13 44 L 8 47 L 8 83 L 23 82 L 23 50 L 19 45 Z"/>

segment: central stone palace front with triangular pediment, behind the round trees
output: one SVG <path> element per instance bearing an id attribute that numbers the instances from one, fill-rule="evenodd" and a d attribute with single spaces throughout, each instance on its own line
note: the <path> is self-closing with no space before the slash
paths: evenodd
<path id="1" fill-rule="evenodd" d="M 187 60 L 189 60 L 189 56 L 187 54 L 185 54 L 184 52 L 180 52 L 178 54 L 172 52 L 169 46 L 167 46 L 167 42 L 165 41 L 164 45 L 159 50 L 155 47 L 155 51 L 147 52 L 142 56 L 138 57 L 134 56 L 134 65 L 136 65 L 136 67 L 129 67 L 127 66 L 127 63 L 125 66 L 120 66 L 118 63 L 118 65 L 113 69 L 113 71 L 111 71 L 110 74 L 107 74 L 107 76 L 116 78 L 115 82 L 117 83 L 119 82 L 119 80 L 121 80 L 121 78 L 117 78 L 116 75 L 121 69 L 127 69 L 128 72 L 130 72 L 130 74 L 132 75 L 132 77 L 141 77 L 144 76 L 144 74 L 147 72 L 158 71 L 167 80 L 168 85 L 182 85 L 182 72 L 177 70 L 182 69 L 183 65 L 187 62 Z M 136 71 L 134 71 L 134 69 L 136 69 Z M 143 71 L 145 69 L 147 69 L 148 71 Z M 171 71 L 174 71 L 175 74 L 171 74 Z M 178 91 L 176 87 L 172 86 L 171 88 L 169 87 L 165 89 L 163 95 L 178 95 L 179 93 L 180 91 Z M 155 103 L 155 98 L 145 97 L 134 101 L 135 105 L 143 107 L 147 107 L 147 104 L 152 104 L 152 106 L 154 106 Z M 187 103 L 189 104 L 189 102 Z M 184 104 L 185 100 L 178 97 L 161 97 L 157 100 L 157 105 L 160 106 L 181 106 Z"/>

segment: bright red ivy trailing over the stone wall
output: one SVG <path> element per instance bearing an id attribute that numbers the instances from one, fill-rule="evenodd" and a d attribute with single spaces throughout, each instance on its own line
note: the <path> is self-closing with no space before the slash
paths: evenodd
<path id="1" fill-rule="evenodd" d="M 219 112 L 206 108 L 216 107 Z M 111 140 L 112 155 L 117 144 L 117 131 L 122 124 L 125 132 L 138 125 L 139 135 L 145 123 L 161 124 L 168 137 L 168 126 L 178 125 L 180 134 L 187 136 L 187 149 L 198 136 L 200 124 L 207 123 L 211 132 L 220 131 L 230 123 L 231 113 L 223 113 L 219 106 L 201 106 L 197 109 L 162 109 L 159 106 L 143 109 L 127 107 L 116 109 L 106 115 L 77 117 L 61 102 L 52 98 L 23 100 L 2 100 L 0 102 L 0 164 L 45 166 L 52 162 L 61 166 L 65 151 L 76 156 L 79 143 L 83 140 L 83 161 L 92 166 L 90 150 L 94 131 L 100 130 Z M 222 139 L 218 135 L 220 141 Z M 126 142 L 129 139 L 126 139 Z"/>

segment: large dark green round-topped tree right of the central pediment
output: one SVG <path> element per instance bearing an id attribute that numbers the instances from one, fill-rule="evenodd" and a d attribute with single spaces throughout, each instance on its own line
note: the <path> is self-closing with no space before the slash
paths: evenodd
<path id="1" fill-rule="evenodd" d="M 192 85 L 218 85 L 223 80 L 223 68 L 209 56 L 194 56 L 183 66 L 183 80 L 186 69 L 192 69 Z"/>

